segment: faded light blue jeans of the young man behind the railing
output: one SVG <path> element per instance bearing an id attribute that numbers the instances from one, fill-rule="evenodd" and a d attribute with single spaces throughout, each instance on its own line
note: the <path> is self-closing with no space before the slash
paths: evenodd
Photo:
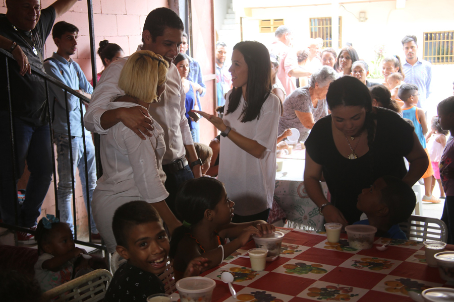
<path id="1" fill-rule="evenodd" d="M 60 220 L 70 225 L 71 231 L 74 232 L 74 220 L 71 211 L 71 204 L 73 201 L 73 189 L 71 179 L 71 162 L 70 162 L 70 148 L 68 135 L 54 134 L 53 142 L 57 149 L 57 163 L 59 173 L 59 184 L 57 188 L 57 198 L 59 201 Z M 85 136 L 85 143 L 87 149 L 87 165 L 88 165 L 88 198 L 90 200 L 90 225 L 91 233 L 97 234 L 96 224 L 93 220 L 93 213 L 91 211 L 91 200 L 93 191 L 96 187 L 96 162 L 95 151 L 91 134 Z M 85 180 L 85 159 L 84 159 L 84 141 L 82 137 L 72 136 L 71 148 L 73 150 L 73 175 L 74 187 L 76 187 L 76 167 L 79 169 L 80 182 L 82 184 L 82 193 L 85 201 L 85 208 L 87 208 L 87 182 Z"/>

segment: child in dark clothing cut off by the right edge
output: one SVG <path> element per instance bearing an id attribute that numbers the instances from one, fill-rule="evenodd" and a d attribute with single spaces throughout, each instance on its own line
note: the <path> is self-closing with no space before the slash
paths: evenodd
<path id="1" fill-rule="evenodd" d="M 438 123 L 441 129 L 454 133 L 454 96 L 441 101 L 437 106 Z M 454 244 L 454 139 L 448 140 L 440 160 L 440 178 L 446 200 L 441 220 L 446 223 L 447 244 Z"/>

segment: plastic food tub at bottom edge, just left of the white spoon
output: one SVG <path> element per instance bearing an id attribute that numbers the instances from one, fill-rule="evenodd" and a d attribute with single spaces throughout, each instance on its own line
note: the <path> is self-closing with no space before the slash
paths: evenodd
<path id="1" fill-rule="evenodd" d="M 181 302 L 210 302 L 216 282 L 206 277 L 187 277 L 175 285 Z"/>

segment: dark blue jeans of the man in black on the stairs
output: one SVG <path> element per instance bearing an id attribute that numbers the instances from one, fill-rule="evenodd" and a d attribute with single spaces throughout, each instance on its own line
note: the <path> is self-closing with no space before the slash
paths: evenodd
<path id="1" fill-rule="evenodd" d="M 16 224 L 15 207 L 18 209 L 18 225 L 30 228 L 36 225 L 41 205 L 52 180 L 52 156 L 49 125 L 33 126 L 13 117 L 16 177 L 13 173 L 11 127 L 7 111 L 0 111 L 0 213 L 3 222 Z M 22 206 L 17 202 L 17 182 L 27 161 L 30 177 Z"/>

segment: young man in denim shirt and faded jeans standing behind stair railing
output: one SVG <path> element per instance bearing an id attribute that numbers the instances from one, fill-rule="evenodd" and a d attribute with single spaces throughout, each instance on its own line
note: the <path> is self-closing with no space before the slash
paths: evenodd
<path id="1" fill-rule="evenodd" d="M 59 49 L 52 54 L 52 57 L 44 62 L 44 69 L 51 77 L 82 93 L 87 98 L 90 98 L 93 93 L 93 87 L 88 83 L 79 64 L 70 58 L 77 50 L 78 32 L 79 29 L 76 26 L 65 21 L 58 22 L 53 26 L 53 41 Z M 85 113 L 85 106 L 81 106 L 79 98 L 68 93 L 68 103 L 65 104 L 64 90 L 54 85 L 49 85 L 49 88 L 53 117 L 54 143 L 57 147 L 59 173 L 57 197 L 60 209 L 60 220 L 67 222 L 74 232 L 73 215 L 71 213 L 71 203 L 73 200 L 71 174 L 74 175 L 74 182 L 76 182 L 76 167 L 79 169 L 82 193 L 85 206 L 87 206 L 87 184 L 88 200 L 90 200 L 90 202 L 96 187 L 94 145 L 91 133 L 82 127 L 81 120 Z M 70 119 L 70 136 L 68 136 L 67 107 Z M 83 136 L 85 136 L 87 150 L 87 167 L 85 167 Z M 71 171 L 69 139 L 71 139 L 73 171 Z M 86 181 L 85 178 L 85 168 L 87 168 L 88 171 L 88 181 Z M 91 213 L 91 206 L 90 224 L 92 239 L 100 239 Z"/>

